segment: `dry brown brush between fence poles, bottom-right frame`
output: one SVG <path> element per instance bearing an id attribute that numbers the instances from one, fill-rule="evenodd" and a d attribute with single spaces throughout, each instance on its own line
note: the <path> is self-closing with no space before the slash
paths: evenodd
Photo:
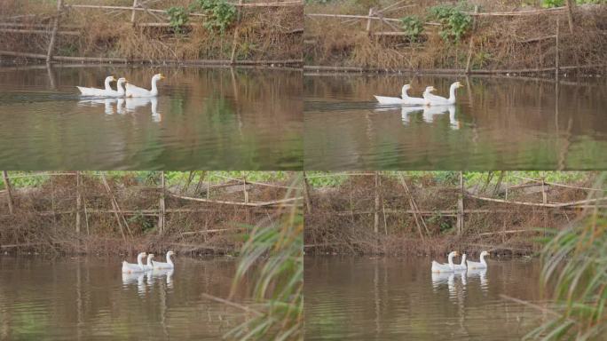
<path id="1" fill-rule="evenodd" d="M 408 196 L 398 178 L 381 176 L 379 233 L 374 234 L 374 177 L 350 177 L 336 188 L 311 191 L 311 213 L 305 215 L 304 243 L 308 253 L 410 255 L 445 253 L 449 250 L 493 250 L 507 254 L 530 254 L 540 250 L 543 229 L 565 226 L 581 210 L 545 209 L 509 203 L 464 199 L 464 230 L 456 233 L 458 186 L 445 186 L 430 177 L 407 179 L 429 234 L 420 237 L 410 213 Z M 580 184 L 582 185 L 582 184 Z M 591 182 L 586 184 L 592 185 Z M 536 191 L 510 189 L 509 200 L 542 202 Z M 469 189 L 472 190 L 472 189 Z M 477 189 L 475 189 L 477 190 Z M 491 196 L 494 188 L 485 189 Z M 499 190 L 503 196 L 503 188 Z M 586 191 L 549 187 L 550 202 L 573 202 L 586 198 Z M 409 212 L 407 213 L 406 210 Z M 364 212 L 359 214 L 358 212 Z M 384 214 L 385 212 L 385 220 Z M 524 230 L 524 232 L 511 233 Z"/>

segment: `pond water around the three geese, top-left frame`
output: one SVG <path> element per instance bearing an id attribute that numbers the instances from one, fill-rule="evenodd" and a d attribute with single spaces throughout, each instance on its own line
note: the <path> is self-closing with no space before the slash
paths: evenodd
<path id="1" fill-rule="evenodd" d="M 81 98 L 106 75 L 156 99 Z M 115 88 L 115 83 L 113 84 Z M 20 170 L 293 170 L 303 164 L 302 73 L 273 68 L 0 68 L 0 164 Z"/>

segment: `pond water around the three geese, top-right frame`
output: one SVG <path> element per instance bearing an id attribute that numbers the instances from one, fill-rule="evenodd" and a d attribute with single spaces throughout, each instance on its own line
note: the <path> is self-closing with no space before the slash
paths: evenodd
<path id="1" fill-rule="evenodd" d="M 427 85 L 451 107 L 380 107 Z M 312 170 L 592 170 L 607 167 L 607 80 L 304 75 L 304 167 Z"/>

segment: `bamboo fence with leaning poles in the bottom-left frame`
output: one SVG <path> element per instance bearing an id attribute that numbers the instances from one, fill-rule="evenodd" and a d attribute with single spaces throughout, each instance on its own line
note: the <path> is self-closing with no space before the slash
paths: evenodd
<path id="1" fill-rule="evenodd" d="M 118 226 L 119 232 L 122 236 L 123 240 L 126 240 L 130 236 L 132 236 L 132 232 L 130 231 L 129 222 L 126 219 L 127 216 L 146 216 L 146 217 L 156 217 L 158 219 L 158 233 L 162 234 L 166 225 L 166 218 L 170 214 L 175 213 L 187 213 L 187 212 L 211 212 L 212 210 L 209 208 L 209 205 L 227 205 L 233 207 L 248 207 L 248 208 L 264 208 L 271 211 L 278 211 L 285 207 L 293 207 L 293 206 L 301 206 L 301 201 L 303 197 L 286 197 L 283 199 L 274 199 L 270 201 L 254 201 L 249 197 L 249 193 L 254 189 L 254 187 L 274 187 L 280 188 L 284 190 L 290 189 L 299 189 L 294 186 L 283 186 L 280 184 L 271 184 L 271 183 L 262 183 L 255 181 L 248 181 L 246 178 L 230 178 L 230 177 L 222 177 L 226 178 L 227 182 L 218 183 L 214 185 L 210 185 L 207 182 L 205 188 L 206 197 L 193 197 L 187 196 L 183 194 L 176 194 L 171 192 L 166 186 L 166 179 L 164 171 L 160 172 L 160 186 L 130 186 L 129 188 L 143 188 L 154 190 L 154 194 L 158 197 L 158 206 L 154 209 L 140 209 L 140 210 L 125 210 L 122 208 L 121 203 L 116 199 L 117 195 L 114 190 L 109 185 L 106 172 L 86 172 L 85 175 L 87 177 L 98 177 L 100 178 L 101 183 L 105 187 L 106 197 L 109 200 L 112 209 L 111 210 L 99 210 L 92 209 L 87 205 L 86 193 L 83 192 L 83 172 L 74 171 L 74 172 L 39 172 L 39 173 L 31 173 L 31 174 L 22 174 L 22 175 L 14 175 L 9 176 L 7 171 L 3 171 L 3 182 L 4 189 L 0 191 L 0 197 L 4 196 L 6 199 L 6 205 L 8 207 L 9 215 L 16 214 L 15 213 L 15 188 L 12 186 L 11 179 L 15 178 L 40 178 L 40 177 L 48 177 L 52 182 L 52 178 L 59 176 L 69 176 L 74 177 L 75 181 L 75 196 L 68 198 L 69 200 L 74 200 L 74 209 L 72 210 L 55 210 L 53 207 L 52 210 L 34 210 L 29 211 L 28 213 L 35 214 L 38 216 L 59 216 L 59 215 L 75 215 L 75 232 L 80 234 L 83 230 L 83 219 L 84 216 L 84 224 L 86 226 L 86 233 L 90 234 L 89 231 L 89 219 L 91 215 L 95 214 L 106 214 L 113 215 L 116 220 L 116 225 Z M 192 173 L 191 173 L 192 175 Z M 219 189 L 225 187 L 239 187 L 242 191 L 242 201 L 226 201 L 221 199 L 210 198 L 211 189 Z M 167 207 L 166 198 L 174 197 L 187 202 L 201 202 L 200 207 L 195 208 L 169 208 Z M 52 199 L 51 199 L 52 200 Z M 267 215 L 267 210 L 258 211 L 258 214 Z M 247 214 L 251 213 L 247 211 Z M 221 233 L 221 232 L 233 232 L 235 230 L 239 230 L 239 228 L 230 228 L 230 229 L 205 229 L 201 231 L 193 231 L 186 232 L 183 234 L 209 234 L 209 233 Z M 2 246 L 4 247 L 4 246 Z"/>

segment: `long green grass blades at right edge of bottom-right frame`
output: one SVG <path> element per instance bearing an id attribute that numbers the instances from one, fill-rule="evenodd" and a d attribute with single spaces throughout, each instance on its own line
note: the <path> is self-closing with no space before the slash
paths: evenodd
<path id="1" fill-rule="evenodd" d="M 607 173 L 596 181 L 605 188 Z M 607 191 L 593 191 L 589 199 Z M 607 337 L 607 210 L 595 202 L 587 213 L 556 232 L 542 251 L 542 284 L 554 283 L 556 311 L 528 338 L 549 340 Z"/>

